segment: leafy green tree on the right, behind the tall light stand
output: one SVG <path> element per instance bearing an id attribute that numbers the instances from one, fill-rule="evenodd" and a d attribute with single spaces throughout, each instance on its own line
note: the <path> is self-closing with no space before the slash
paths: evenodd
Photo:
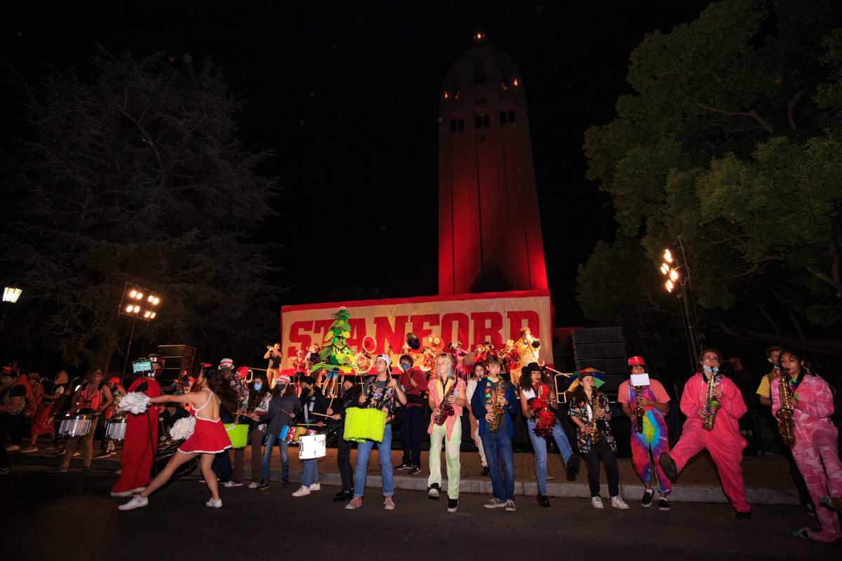
<path id="1" fill-rule="evenodd" d="M 587 177 L 618 222 L 617 241 L 580 267 L 586 316 L 624 305 L 600 294 L 652 282 L 607 271 L 607 258 L 628 262 L 642 247 L 650 261 L 630 266 L 656 270 L 680 235 L 709 339 L 839 344 L 829 333 L 842 323 L 840 15 L 833 1 L 726 0 L 637 46 L 632 93 L 585 133 Z M 651 290 L 635 287 L 632 302 Z"/>

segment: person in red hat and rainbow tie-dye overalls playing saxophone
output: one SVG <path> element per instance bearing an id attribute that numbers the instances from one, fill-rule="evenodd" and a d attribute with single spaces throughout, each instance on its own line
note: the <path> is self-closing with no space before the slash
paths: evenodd
<path id="1" fill-rule="evenodd" d="M 643 357 L 631 357 L 628 362 L 629 374 L 647 373 Z M 646 490 L 640 504 L 644 508 L 652 505 L 655 491 L 652 489 L 652 460 L 655 459 L 655 480 L 658 483 L 658 510 L 669 511 L 667 495 L 672 490 L 669 478 L 663 473 L 663 468 L 657 462 L 661 453 L 669 452 L 669 438 L 667 437 L 667 421 L 663 415 L 669 413 L 669 395 L 658 380 L 649 378 L 647 386 L 633 386 L 630 380 L 620 384 L 617 400 L 622 404 L 623 413 L 632 420 L 632 463 L 637 475 L 643 481 Z M 637 418 L 643 410 L 642 418 Z M 632 407 L 634 409 L 632 409 Z M 641 424 L 641 431 L 637 431 L 636 424 Z M 651 454 L 651 455 L 650 455 Z"/>

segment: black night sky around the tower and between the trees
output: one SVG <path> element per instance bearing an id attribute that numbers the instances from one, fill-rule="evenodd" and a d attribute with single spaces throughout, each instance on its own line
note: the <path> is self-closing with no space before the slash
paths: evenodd
<path id="1" fill-rule="evenodd" d="M 221 64 L 248 102 L 243 143 L 275 152 L 260 171 L 279 178 L 281 216 L 259 239 L 283 244 L 274 262 L 284 271 L 272 279 L 291 285 L 283 304 L 436 293 L 438 95 L 482 29 L 520 64 L 557 325 L 583 325 L 576 268 L 615 230 L 608 198 L 584 179 L 584 130 L 629 93 L 629 55 L 644 34 L 689 22 L 707 3 L 4 4 L 3 59 L 35 83 L 47 65 L 84 76 L 96 44 Z M 8 87 L 4 98 L 8 146 L 19 99 Z M 336 208 L 349 218 L 337 222 Z M 359 264 L 315 273 L 338 257 Z"/>

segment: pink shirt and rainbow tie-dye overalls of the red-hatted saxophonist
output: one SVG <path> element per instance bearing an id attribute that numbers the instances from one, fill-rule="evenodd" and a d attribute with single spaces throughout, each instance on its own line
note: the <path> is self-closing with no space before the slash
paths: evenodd
<path id="1" fill-rule="evenodd" d="M 620 384 L 620 389 L 617 393 L 617 400 L 621 403 L 628 404 L 632 412 L 635 409 L 635 402 L 637 401 L 637 391 L 642 391 L 642 397 L 647 400 L 657 401 L 658 403 L 667 403 L 669 395 L 663 389 L 658 380 L 649 380 L 648 386 L 637 388 L 629 384 L 628 380 Z M 649 483 L 652 478 L 652 461 L 655 460 L 655 476 L 658 479 L 658 491 L 663 494 L 669 494 L 672 486 L 669 484 L 669 478 L 663 473 L 661 464 L 658 463 L 658 457 L 663 452 L 669 452 L 669 439 L 667 437 L 667 421 L 663 419 L 663 413 L 652 405 L 645 405 L 643 410 L 646 413 L 643 415 L 643 431 L 637 432 L 634 429 L 634 421 L 632 421 L 632 463 L 637 470 L 637 475 L 640 476 L 643 483 Z M 652 454 L 650 457 L 650 453 Z"/>

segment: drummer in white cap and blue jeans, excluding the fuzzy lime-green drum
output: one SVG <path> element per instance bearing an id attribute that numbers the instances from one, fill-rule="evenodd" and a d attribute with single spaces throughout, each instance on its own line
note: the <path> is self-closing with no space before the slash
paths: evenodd
<path id="1" fill-rule="evenodd" d="M 357 400 L 360 407 L 379 409 L 386 412 L 386 427 L 383 431 L 383 438 L 380 442 L 365 440 L 357 445 L 357 468 L 354 474 L 354 499 L 345 508 L 349 511 L 360 508 L 363 504 L 363 492 L 365 491 L 365 470 L 368 468 L 369 454 L 371 448 L 377 444 L 377 455 L 380 457 L 380 468 L 383 476 L 383 507 L 386 511 L 395 509 L 394 480 L 392 479 L 392 421 L 394 417 L 395 400 L 401 405 L 407 405 L 407 396 L 403 393 L 401 384 L 397 379 L 392 378 L 390 370 L 392 359 L 387 355 L 378 355 L 374 361 L 376 376 L 369 378 L 365 389 Z"/>

